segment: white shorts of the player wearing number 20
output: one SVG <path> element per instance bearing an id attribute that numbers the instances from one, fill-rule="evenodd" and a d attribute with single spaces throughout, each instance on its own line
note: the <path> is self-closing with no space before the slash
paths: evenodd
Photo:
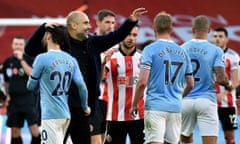
<path id="1" fill-rule="evenodd" d="M 62 144 L 70 119 L 42 120 L 41 144 Z"/>

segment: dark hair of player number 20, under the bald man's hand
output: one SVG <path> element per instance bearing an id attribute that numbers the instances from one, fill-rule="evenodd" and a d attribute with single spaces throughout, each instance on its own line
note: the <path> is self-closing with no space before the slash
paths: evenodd
<path id="1" fill-rule="evenodd" d="M 47 27 L 46 32 L 52 34 L 52 41 L 59 45 L 64 45 L 67 40 L 66 27 L 63 25 L 55 26 L 53 28 Z"/>

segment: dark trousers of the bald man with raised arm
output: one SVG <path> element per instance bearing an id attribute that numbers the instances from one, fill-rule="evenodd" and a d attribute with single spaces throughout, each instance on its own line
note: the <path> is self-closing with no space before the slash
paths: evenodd
<path id="1" fill-rule="evenodd" d="M 71 121 L 63 143 L 70 135 L 73 144 L 91 144 L 89 117 L 79 107 L 70 107 L 70 112 Z"/>

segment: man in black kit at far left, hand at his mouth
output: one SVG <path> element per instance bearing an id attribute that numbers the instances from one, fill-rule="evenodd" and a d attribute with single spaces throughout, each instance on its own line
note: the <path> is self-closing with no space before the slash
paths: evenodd
<path id="1" fill-rule="evenodd" d="M 24 54 L 24 45 L 24 37 L 15 36 L 12 39 L 13 54 L 3 62 L 4 90 L 7 96 L 5 104 L 9 101 L 7 126 L 11 128 L 11 144 L 22 144 L 21 129 L 27 121 L 32 135 L 31 144 L 40 144 L 38 93 L 26 88 L 33 59 Z"/>

